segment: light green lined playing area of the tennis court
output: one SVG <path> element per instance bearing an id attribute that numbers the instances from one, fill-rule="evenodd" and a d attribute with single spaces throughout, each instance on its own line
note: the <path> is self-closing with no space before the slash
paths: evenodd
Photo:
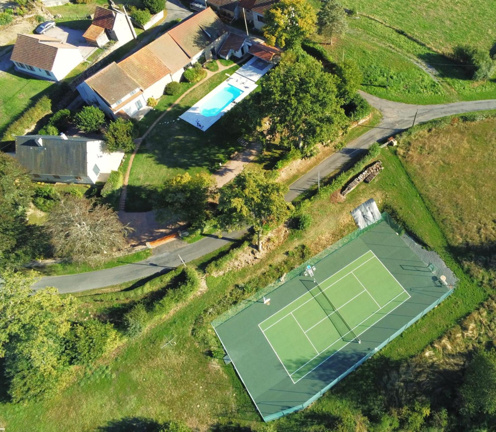
<path id="1" fill-rule="evenodd" d="M 305 294 L 258 324 L 294 383 L 410 298 L 372 251 L 322 282 L 311 272 Z"/>

